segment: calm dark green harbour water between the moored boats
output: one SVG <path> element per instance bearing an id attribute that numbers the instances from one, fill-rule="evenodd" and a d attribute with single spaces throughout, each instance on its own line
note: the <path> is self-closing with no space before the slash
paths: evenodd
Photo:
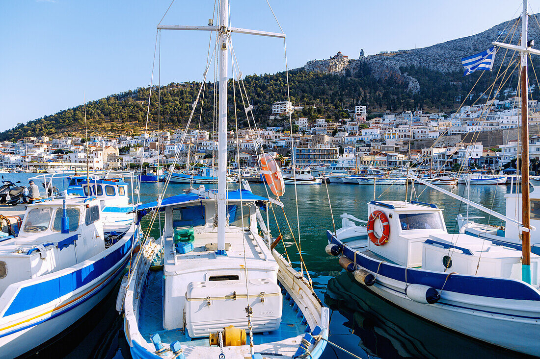
<path id="1" fill-rule="evenodd" d="M 28 177 L 33 175 L 4 174 L 4 177 L 28 184 Z M 42 181 L 36 182 L 40 185 Z M 55 184 L 62 189 L 62 181 L 56 181 Z M 181 193 L 185 187 L 181 184 L 170 184 L 166 197 Z M 251 187 L 255 194 L 266 195 L 262 184 L 252 184 Z M 230 188 L 238 188 L 238 184 L 230 185 Z M 154 201 L 162 189 L 163 183 L 143 184 L 140 201 Z M 467 339 L 419 317 L 404 313 L 361 286 L 355 285 L 350 274 L 341 271 L 338 261 L 326 255 L 326 230 L 333 228 L 328 195 L 332 203 L 335 225 L 339 228 L 341 227 L 339 216 L 342 213 L 366 219 L 367 203 L 374 196 L 377 199 L 403 201 L 404 186 L 377 186 L 375 195 L 373 187 L 365 185 L 328 184 L 328 195 L 326 189 L 325 184 L 299 185 L 296 188 L 296 196 L 298 196 L 302 256 L 313 279 L 316 293 L 332 309 L 330 341 L 362 358 L 517 357 L 508 351 Z M 435 203 L 444 209 L 448 231 L 457 231 L 455 218 L 458 213 L 467 212 L 466 205 L 423 185 L 416 185 L 414 190 L 419 201 Z M 454 192 L 467 196 L 467 188 L 461 185 Z M 509 192 L 507 186 L 471 187 L 469 196 L 477 203 L 504 212 L 504 195 L 507 192 Z M 285 213 L 294 235 L 298 237 L 296 196 L 294 186 L 288 185 L 281 199 L 285 204 Z M 470 208 L 470 214 L 483 216 L 482 212 L 473 208 Z M 275 215 L 289 257 L 298 267 L 298 251 L 285 222 L 284 212 L 278 208 Z M 270 216 L 272 234 L 277 236 L 279 232 L 272 212 Z M 483 219 L 484 223 L 488 220 L 492 224 L 500 224 L 500 220 L 496 218 L 486 216 Z M 143 222 L 143 225 L 145 224 L 147 223 Z M 157 231 L 154 230 L 153 234 L 157 236 Z M 284 246 L 280 244 L 278 250 L 284 252 Z M 62 340 L 40 350 L 33 357 L 130 358 L 123 332 L 123 320 L 114 309 L 115 304 L 116 293 L 112 293 L 89 315 L 80 320 Z M 350 356 L 339 349 L 327 346 L 322 357 L 328 359 Z"/>

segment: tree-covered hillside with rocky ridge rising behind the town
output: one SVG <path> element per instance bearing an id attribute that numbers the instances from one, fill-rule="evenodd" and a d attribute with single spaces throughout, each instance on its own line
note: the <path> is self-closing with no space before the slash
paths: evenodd
<path id="1" fill-rule="evenodd" d="M 532 16 L 531 16 L 532 18 Z M 370 113 L 386 110 L 404 111 L 422 108 L 427 112 L 453 112 L 460 104 L 460 99 L 470 91 L 479 73 L 463 77 L 461 58 L 487 49 L 491 41 L 501 37 L 517 43 L 516 33 L 521 28 L 516 20 L 502 23 L 474 36 L 450 40 L 422 49 L 406 50 L 358 59 L 347 59 L 341 54 L 327 60 L 309 61 L 305 66 L 289 72 L 291 101 L 304 105 L 302 112 L 295 112 L 294 117 L 305 116 L 311 120 L 319 116 L 329 119 L 347 118 L 343 109 L 355 105 L 367 105 Z M 508 25 L 508 26 L 507 26 Z M 506 29 L 504 32 L 503 30 Z M 512 38 L 513 36 L 513 38 Z M 529 22 L 529 37 L 540 44 L 540 30 L 534 19 Z M 504 53 L 496 57 L 498 68 Z M 510 57 L 510 56 L 509 56 Z M 509 58 L 507 57 L 507 58 Z M 540 69 L 540 60 L 533 59 L 530 67 L 530 83 L 536 84 L 532 97 L 538 99 L 538 86 L 532 68 Z M 478 82 L 477 89 L 487 88 L 495 74 L 486 72 Z M 515 88 L 517 77 L 513 77 L 505 88 Z M 286 76 L 284 72 L 264 75 L 248 75 L 245 78 L 247 92 L 254 106 L 258 125 L 285 126 L 283 120 L 270 121 L 272 103 L 286 99 Z M 173 82 L 161 87 L 160 126 L 167 130 L 184 128 L 191 112 L 191 104 L 197 95 L 200 82 Z M 230 119 L 233 120 L 232 83 L 230 82 L 229 103 Z M 480 95 L 481 91 L 473 92 Z M 238 91 L 237 91 L 238 93 Z M 503 96 L 508 96 L 505 94 Z M 149 87 L 139 87 L 119 94 L 112 94 L 86 104 L 89 135 L 137 135 L 144 132 Z M 200 108 L 202 106 L 201 128 L 213 128 L 213 85 L 205 86 L 205 101 L 199 101 L 195 119 L 191 128 L 199 127 Z M 469 100 L 468 102 L 472 102 Z M 202 105 L 201 105 L 202 103 Z M 246 127 L 245 113 L 241 109 L 238 95 L 239 126 Z M 466 103 L 467 104 L 467 103 Z M 84 107 L 66 109 L 56 114 L 29 121 L 0 133 L 0 140 L 19 139 L 24 136 L 61 137 L 65 135 L 84 135 Z M 232 124 L 233 121 L 230 121 Z M 231 125 L 230 125 L 231 126 Z M 152 91 L 149 129 L 158 128 L 158 91 Z"/>

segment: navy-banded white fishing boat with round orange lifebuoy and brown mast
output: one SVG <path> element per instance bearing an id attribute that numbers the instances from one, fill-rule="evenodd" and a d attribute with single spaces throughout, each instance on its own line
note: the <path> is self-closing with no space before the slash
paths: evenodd
<path id="1" fill-rule="evenodd" d="M 522 139 L 528 139 L 529 54 L 527 1 L 523 2 L 522 45 L 494 42 L 521 53 Z M 508 74 L 508 76 L 510 76 Z M 522 157 L 529 156 L 522 141 Z M 518 353 L 540 354 L 540 256 L 531 253 L 529 161 L 523 161 L 521 219 L 464 203 L 516 225 L 521 246 L 463 233 L 448 233 L 442 209 L 417 201 L 371 201 L 368 246 L 356 251 L 328 231 L 326 251 L 354 273 L 359 285 L 408 312 L 475 339 Z M 450 194 L 421 178 L 415 181 Z M 533 192 L 534 193 L 534 192 Z M 406 196 L 407 197 L 407 196 Z M 457 198 L 454 195 L 454 198 Z"/>

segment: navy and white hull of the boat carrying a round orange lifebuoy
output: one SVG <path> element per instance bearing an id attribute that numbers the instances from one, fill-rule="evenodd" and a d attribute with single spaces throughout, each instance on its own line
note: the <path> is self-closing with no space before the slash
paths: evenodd
<path id="1" fill-rule="evenodd" d="M 327 236 L 329 243 L 343 245 L 341 241 L 332 236 L 332 233 L 327 232 Z M 342 253 L 350 260 L 356 258 L 359 269 L 374 272 L 376 282 L 368 288 L 394 305 L 437 325 L 496 346 L 529 355 L 540 353 L 540 342 L 537 340 L 540 336 L 540 325 L 538 324 L 540 301 L 526 298 L 532 287 L 516 283 L 514 280 L 483 277 L 465 278 L 467 282 L 462 282 L 463 287 L 468 287 L 467 290 L 470 293 L 441 290 L 441 300 L 438 302 L 421 303 L 411 300 L 407 296 L 405 288 L 408 285 L 415 284 L 419 280 L 423 281 L 420 284 L 430 285 L 430 281 L 433 282 L 433 278 L 430 277 L 438 277 L 436 281 L 440 281 L 439 287 L 446 284 L 446 288 L 453 289 L 458 288 L 459 285 L 456 286 L 450 284 L 450 280 L 448 282 L 444 280 L 444 277 L 449 275 L 448 273 L 421 271 L 414 268 L 404 268 L 409 278 L 406 280 L 404 278 L 407 277 L 402 275 L 403 267 L 381 263 L 381 261 L 362 253 L 355 253 L 346 245 L 343 246 Z M 401 273 L 396 275 L 399 272 Z M 423 277 L 416 275 L 420 274 L 419 272 L 423 274 Z M 469 277 L 459 274 L 455 274 L 453 277 L 457 276 Z M 469 281 L 470 283 L 468 283 Z M 494 285 L 512 285 L 519 290 L 523 289 L 522 293 L 527 294 L 523 298 L 515 296 L 515 299 L 511 295 L 509 299 L 496 298 L 493 295 L 475 295 L 475 291 L 489 293 L 490 289 L 486 285 L 491 281 L 494 282 Z M 495 284 L 495 282 L 498 283 Z M 476 288 L 469 286 L 470 284 L 475 284 Z M 530 289 L 523 286 L 528 286 Z"/>

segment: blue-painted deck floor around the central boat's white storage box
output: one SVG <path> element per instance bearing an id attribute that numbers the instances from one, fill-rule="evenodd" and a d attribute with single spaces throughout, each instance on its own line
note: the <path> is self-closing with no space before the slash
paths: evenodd
<path id="1" fill-rule="evenodd" d="M 182 329 L 165 330 L 163 328 L 163 291 L 164 291 L 163 271 L 150 271 L 147 286 L 141 295 L 139 308 L 139 330 L 141 335 L 150 343 L 150 336 L 158 333 L 164 343 L 180 341 L 188 346 L 208 346 L 208 338 L 191 339 L 187 331 Z M 288 298 L 285 291 L 283 295 L 283 311 L 281 315 L 281 325 L 279 329 L 272 332 L 255 333 L 253 335 L 254 344 L 262 344 L 284 340 L 297 336 L 306 331 L 307 323 Z"/>

